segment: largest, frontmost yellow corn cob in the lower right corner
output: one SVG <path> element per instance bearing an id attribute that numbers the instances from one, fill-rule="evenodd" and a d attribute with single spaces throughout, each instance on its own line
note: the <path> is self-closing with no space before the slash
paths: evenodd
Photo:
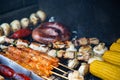
<path id="1" fill-rule="evenodd" d="M 103 61 L 92 62 L 90 73 L 103 80 L 120 80 L 120 68 Z"/>

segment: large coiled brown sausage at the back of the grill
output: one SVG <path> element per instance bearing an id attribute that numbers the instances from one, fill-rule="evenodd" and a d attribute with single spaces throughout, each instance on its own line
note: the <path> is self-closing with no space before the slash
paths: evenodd
<path id="1" fill-rule="evenodd" d="M 32 38 L 37 42 L 48 44 L 56 41 L 69 40 L 70 33 L 60 23 L 46 22 L 33 30 Z"/>

